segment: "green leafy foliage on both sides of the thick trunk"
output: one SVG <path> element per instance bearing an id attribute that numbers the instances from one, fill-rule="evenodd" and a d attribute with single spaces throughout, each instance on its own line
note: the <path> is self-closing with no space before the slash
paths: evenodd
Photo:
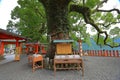
<path id="1" fill-rule="evenodd" d="M 45 9 L 41 1 L 18 0 L 18 6 L 11 12 L 11 20 L 8 23 L 7 29 L 31 38 L 31 41 L 47 42 L 48 26 Z M 72 39 L 82 39 L 83 42 L 90 44 L 90 38 L 92 37 L 98 45 L 119 46 L 120 43 L 113 45 L 113 38 L 116 39 L 120 36 L 120 28 L 114 26 L 120 23 L 120 11 L 119 9 L 102 9 L 101 7 L 107 1 L 71 0 L 68 6 L 69 10 L 71 5 L 79 7 L 78 11 L 69 11 L 69 15 L 67 16 L 70 37 Z M 89 15 L 86 15 L 86 11 L 81 11 L 83 8 L 88 9 L 87 12 L 89 11 Z M 94 32 L 94 35 L 91 32 Z M 105 32 L 107 35 L 104 34 Z"/>

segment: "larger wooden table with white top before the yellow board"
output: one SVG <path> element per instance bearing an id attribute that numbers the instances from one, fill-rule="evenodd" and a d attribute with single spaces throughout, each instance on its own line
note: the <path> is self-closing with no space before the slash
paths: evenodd
<path id="1" fill-rule="evenodd" d="M 60 66 L 57 67 L 57 65 Z M 83 60 L 79 55 L 55 55 L 54 74 L 57 69 L 81 69 L 82 76 L 84 76 Z"/>

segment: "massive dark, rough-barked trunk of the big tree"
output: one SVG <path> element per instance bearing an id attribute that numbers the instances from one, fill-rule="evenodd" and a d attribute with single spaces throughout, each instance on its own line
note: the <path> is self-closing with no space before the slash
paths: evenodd
<path id="1" fill-rule="evenodd" d="M 46 16 L 48 35 L 52 40 L 69 39 L 68 4 L 70 0 L 43 0 Z M 46 3 L 46 4 L 45 4 Z M 55 46 L 50 42 L 48 56 L 54 58 Z"/>

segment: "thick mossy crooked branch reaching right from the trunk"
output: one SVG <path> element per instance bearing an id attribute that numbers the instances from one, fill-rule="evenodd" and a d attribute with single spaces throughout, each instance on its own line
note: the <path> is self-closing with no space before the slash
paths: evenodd
<path id="1" fill-rule="evenodd" d="M 93 19 L 91 19 L 91 10 L 88 7 L 84 7 L 84 6 L 78 6 L 78 5 L 71 5 L 70 7 L 70 11 L 75 11 L 78 12 L 80 14 L 83 15 L 84 17 L 84 21 L 87 24 L 92 25 L 98 32 L 98 40 L 97 43 L 99 41 L 99 36 L 100 34 L 105 34 L 105 39 L 104 39 L 104 44 L 106 44 L 107 38 L 108 38 L 108 34 L 106 31 L 102 31 L 97 24 L 95 24 L 95 22 L 93 21 Z"/>

